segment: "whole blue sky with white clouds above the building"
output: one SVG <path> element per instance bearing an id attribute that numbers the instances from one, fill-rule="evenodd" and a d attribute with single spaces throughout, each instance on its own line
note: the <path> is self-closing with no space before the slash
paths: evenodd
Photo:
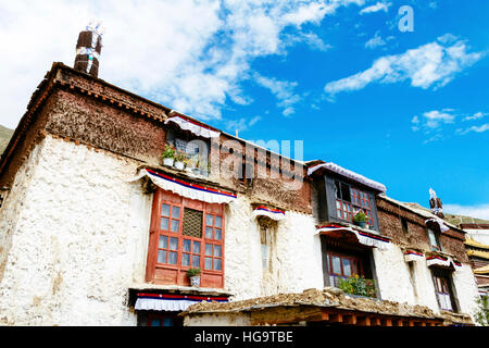
<path id="1" fill-rule="evenodd" d="M 246 139 L 303 140 L 305 160 L 396 199 L 426 207 L 432 187 L 446 211 L 489 219 L 488 16 L 486 0 L 4 2 L 0 124 L 16 126 L 53 61 L 73 65 L 97 18 L 109 83 Z"/>

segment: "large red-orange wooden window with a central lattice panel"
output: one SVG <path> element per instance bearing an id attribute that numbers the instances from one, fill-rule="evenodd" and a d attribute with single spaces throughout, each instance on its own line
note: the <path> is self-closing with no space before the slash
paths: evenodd
<path id="1" fill-rule="evenodd" d="M 186 271 L 201 269 L 201 286 L 224 286 L 224 209 L 156 190 L 150 228 L 147 282 L 189 285 Z"/>

